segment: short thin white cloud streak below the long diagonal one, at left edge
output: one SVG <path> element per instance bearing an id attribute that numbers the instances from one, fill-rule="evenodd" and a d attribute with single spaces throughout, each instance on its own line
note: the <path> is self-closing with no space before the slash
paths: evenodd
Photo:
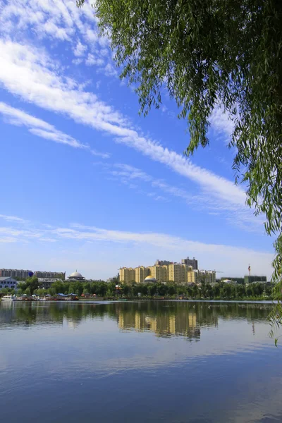
<path id="1" fill-rule="evenodd" d="M 6 118 L 6 122 L 11 125 L 25 126 L 28 128 L 30 133 L 44 138 L 45 140 L 59 142 L 60 144 L 66 144 L 73 148 L 85 149 L 91 152 L 94 156 L 99 156 L 104 159 L 109 158 L 110 156 L 109 153 L 97 152 L 89 145 L 82 144 L 82 142 L 75 140 L 70 135 L 57 130 L 54 125 L 42 121 L 42 119 L 35 118 L 35 116 L 31 116 L 30 114 L 25 113 L 25 111 L 8 106 L 8 104 L 3 102 L 0 102 L 0 114 L 2 114 Z"/>

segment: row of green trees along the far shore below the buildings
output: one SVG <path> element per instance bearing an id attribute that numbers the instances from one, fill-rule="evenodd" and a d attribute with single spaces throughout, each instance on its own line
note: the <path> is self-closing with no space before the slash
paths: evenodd
<path id="1" fill-rule="evenodd" d="M 164 283 L 121 283 L 120 289 L 116 288 L 116 281 L 106 283 L 104 281 L 56 281 L 48 289 L 39 285 L 35 277 L 27 278 L 24 283 L 18 284 L 18 294 L 45 295 L 47 293 L 56 295 L 59 293 L 83 293 L 96 294 L 97 297 L 175 297 L 183 295 L 185 298 L 211 298 L 211 299 L 240 299 L 240 298 L 272 298 L 273 284 L 252 283 L 248 286 L 242 284 L 216 283 L 212 286 L 209 283 L 202 283 L 202 286 L 178 285 L 173 282 Z"/>

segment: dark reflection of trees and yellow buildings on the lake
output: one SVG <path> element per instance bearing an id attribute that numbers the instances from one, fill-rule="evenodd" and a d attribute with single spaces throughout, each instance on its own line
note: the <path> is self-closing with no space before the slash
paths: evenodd
<path id="1" fill-rule="evenodd" d="M 123 331 L 152 331 L 157 336 L 200 338 L 201 328 L 216 328 L 219 318 L 265 321 L 271 305 L 242 305 L 240 303 L 201 302 L 2 302 L 0 328 L 34 324 L 63 324 L 77 329 L 85 319 L 108 319 L 118 322 Z"/>

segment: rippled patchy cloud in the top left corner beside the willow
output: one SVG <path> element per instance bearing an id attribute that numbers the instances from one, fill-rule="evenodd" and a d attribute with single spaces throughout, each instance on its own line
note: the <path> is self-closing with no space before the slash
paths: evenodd
<path id="1" fill-rule="evenodd" d="M 3 1 L 0 4 L 0 35 L 21 40 L 32 31 L 39 39 L 68 43 L 74 64 L 82 63 L 82 57 L 89 50 L 98 58 L 97 71 L 104 69 L 104 74 L 112 77 L 109 40 L 99 37 L 91 4 L 92 1 L 85 1 L 85 6 L 79 9 L 73 0 Z"/>

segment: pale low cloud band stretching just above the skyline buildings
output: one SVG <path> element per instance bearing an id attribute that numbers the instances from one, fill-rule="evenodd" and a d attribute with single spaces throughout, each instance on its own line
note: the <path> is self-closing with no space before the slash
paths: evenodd
<path id="1" fill-rule="evenodd" d="M 0 227 L 1 243 L 17 242 L 20 245 L 20 243 L 26 243 L 29 240 L 32 240 L 32 245 L 36 245 L 37 242 L 54 243 L 56 241 L 58 245 L 66 244 L 69 248 L 80 247 L 80 245 L 85 245 L 85 243 L 90 241 L 92 244 L 87 244 L 89 245 L 87 247 L 87 254 L 89 255 L 93 254 L 92 250 L 90 250 L 91 248 L 101 250 L 101 247 L 99 247 L 100 243 L 127 245 L 130 250 L 137 252 L 138 257 L 131 264 L 123 263 L 124 253 L 121 247 L 119 260 L 121 265 L 133 266 L 142 264 L 143 252 L 146 254 L 147 250 L 150 250 L 156 256 L 153 256 L 154 259 L 162 255 L 172 259 L 173 257 L 176 257 L 176 259 L 178 257 L 179 260 L 185 257 L 188 252 L 191 252 L 192 256 L 199 259 L 201 268 L 222 270 L 229 276 L 243 275 L 249 263 L 255 274 L 267 274 L 267 276 L 270 276 L 271 261 L 274 257 L 269 252 L 255 251 L 245 247 L 233 247 L 232 245 L 201 243 L 169 235 L 168 233 L 116 231 L 115 229 L 97 228 L 79 223 L 56 228 L 47 228 L 46 225 L 28 223 L 23 228 L 18 229 L 11 226 L 10 222 L 10 226 Z M 105 245 L 103 248 L 105 248 Z M 45 260 L 48 259 L 46 254 L 44 252 Z M 149 265 L 151 263 L 145 262 L 143 264 Z"/>

